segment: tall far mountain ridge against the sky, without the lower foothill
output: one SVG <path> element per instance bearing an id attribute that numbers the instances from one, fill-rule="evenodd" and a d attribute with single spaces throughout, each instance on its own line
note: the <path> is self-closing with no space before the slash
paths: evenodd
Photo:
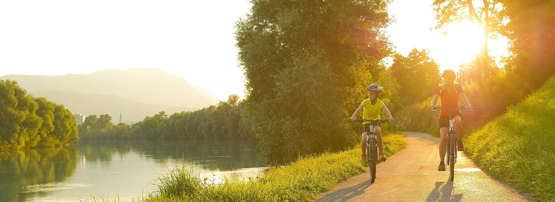
<path id="1" fill-rule="evenodd" d="M 111 69 L 62 76 L 6 75 L 0 76 L 2 79 L 16 80 L 29 93 L 61 91 L 115 95 L 129 101 L 168 108 L 202 108 L 219 101 L 216 96 L 190 84 L 183 77 L 170 75 L 160 69 Z"/>

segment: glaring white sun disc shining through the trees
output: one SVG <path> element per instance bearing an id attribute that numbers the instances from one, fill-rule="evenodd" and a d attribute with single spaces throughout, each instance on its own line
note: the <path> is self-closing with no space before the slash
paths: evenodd
<path id="1" fill-rule="evenodd" d="M 458 71 L 463 63 L 470 63 L 480 54 L 484 43 L 482 28 L 468 20 L 444 27 L 447 34 L 433 40 L 430 56 L 440 65 L 440 70 Z M 437 30 L 437 32 L 441 32 Z"/>

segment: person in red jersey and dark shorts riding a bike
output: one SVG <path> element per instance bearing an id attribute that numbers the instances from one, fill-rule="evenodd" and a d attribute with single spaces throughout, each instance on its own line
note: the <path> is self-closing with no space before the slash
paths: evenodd
<path id="1" fill-rule="evenodd" d="M 436 88 L 435 95 L 433 95 L 432 102 L 430 103 L 430 109 L 432 109 L 437 102 L 437 98 L 440 97 L 441 99 L 441 107 L 446 108 L 448 110 L 456 110 L 458 109 L 458 98 L 460 97 L 462 102 L 472 110 L 474 108 L 468 102 L 466 98 L 465 92 L 462 91 L 461 85 L 455 82 L 455 71 L 453 70 L 445 70 L 441 75 L 443 77 L 443 84 Z M 447 130 L 449 127 L 449 112 L 441 110 L 440 113 L 440 165 L 437 167 L 439 171 L 445 171 L 445 151 L 447 148 L 445 144 L 447 143 Z M 462 146 L 462 115 L 461 111 L 453 111 L 453 125 L 455 125 L 455 132 L 457 133 L 457 150 L 464 151 L 465 147 Z"/>

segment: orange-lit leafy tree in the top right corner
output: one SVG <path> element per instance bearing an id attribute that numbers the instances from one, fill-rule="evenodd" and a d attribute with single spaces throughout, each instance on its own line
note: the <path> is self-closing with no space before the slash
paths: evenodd
<path id="1" fill-rule="evenodd" d="M 507 23 L 500 31 L 511 40 L 511 55 L 504 66 L 507 85 L 519 94 L 512 99 L 522 99 L 555 74 L 555 1 L 501 3 Z"/>

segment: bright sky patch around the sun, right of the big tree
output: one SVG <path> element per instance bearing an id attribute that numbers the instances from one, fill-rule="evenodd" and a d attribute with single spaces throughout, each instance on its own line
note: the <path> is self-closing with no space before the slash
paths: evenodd
<path id="1" fill-rule="evenodd" d="M 413 48 L 427 49 L 440 70 L 458 71 L 462 63 L 476 59 L 483 44 L 483 32 L 477 24 L 470 21 L 452 24 L 443 30 L 431 28 L 437 25 L 436 12 L 432 8 L 433 0 L 393 0 L 389 12 L 396 20 L 387 28 L 395 50 L 407 56 Z M 508 39 L 499 37 L 489 40 L 490 55 L 497 57 L 507 54 Z"/>

